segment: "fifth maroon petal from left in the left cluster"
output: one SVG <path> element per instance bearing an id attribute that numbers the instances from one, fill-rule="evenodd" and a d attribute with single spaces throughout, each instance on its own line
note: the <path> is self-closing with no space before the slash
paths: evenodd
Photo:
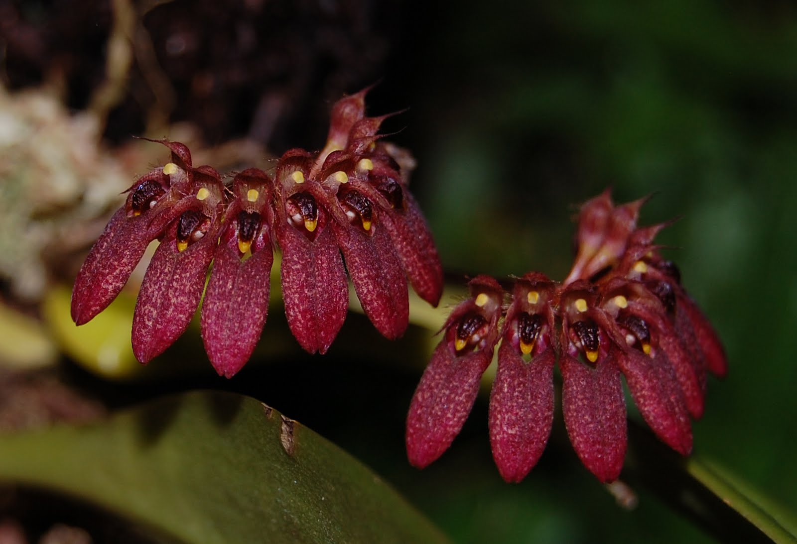
<path id="1" fill-rule="evenodd" d="M 352 195 L 357 197 L 352 198 Z M 344 194 L 341 200 L 356 201 L 363 206 L 367 202 L 355 191 Z M 397 339 L 406 331 L 410 319 L 406 276 L 387 229 L 383 229 L 383 221 L 379 220 L 382 216 L 371 209 L 370 204 L 360 211 L 363 215 L 355 217 L 354 222 L 345 225 L 333 223 L 332 230 L 365 314 L 383 336 Z"/>

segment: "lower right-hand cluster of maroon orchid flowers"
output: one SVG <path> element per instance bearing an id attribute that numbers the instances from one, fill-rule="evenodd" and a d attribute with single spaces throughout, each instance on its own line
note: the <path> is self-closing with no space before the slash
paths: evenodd
<path id="1" fill-rule="evenodd" d="M 508 482 L 524 479 L 548 442 L 557 361 L 567 433 L 598 479 L 617 479 L 626 453 L 621 375 L 656 435 L 691 452 L 690 418 L 703 414 L 707 371 L 723 377 L 727 363 L 677 267 L 654 245 L 665 225 L 637 227 L 643 203 L 614 205 L 608 192 L 586 202 L 563 282 L 531 272 L 506 293 L 489 276 L 470 281 L 470 298 L 446 321 L 410 405 L 410 463 L 426 467 L 449 448 L 499 341 L 489 435 Z"/>

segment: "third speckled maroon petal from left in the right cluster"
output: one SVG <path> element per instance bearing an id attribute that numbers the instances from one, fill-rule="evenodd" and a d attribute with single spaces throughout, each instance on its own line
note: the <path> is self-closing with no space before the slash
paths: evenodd
<path id="1" fill-rule="evenodd" d="M 626 405 L 620 372 L 603 356 L 595 368 L 562 354 L 562 410 L 581 462 L 604 483 L 617 479 L 626 456 Z"/>

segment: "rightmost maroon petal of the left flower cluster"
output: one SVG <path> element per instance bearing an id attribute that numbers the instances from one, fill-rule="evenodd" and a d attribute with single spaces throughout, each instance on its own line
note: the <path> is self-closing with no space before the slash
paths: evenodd
<path id="1" fill-rule="evenodd" d="M 391 235 L 412 288 L 422 299 L 437 306 L 443 291 L 443 269 L 438 250 L 418 203 L 404 192 L 406 209 L 385 213 L 383 225 Z"/>

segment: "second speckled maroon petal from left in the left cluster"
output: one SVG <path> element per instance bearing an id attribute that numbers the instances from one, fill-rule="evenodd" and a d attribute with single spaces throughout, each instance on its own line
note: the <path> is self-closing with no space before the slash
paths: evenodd
<path id="1" fill-rule="evenodd" d="M 202 228 L 202 222 L 209 219 L 184 220 L 190 217 L 188 213 L 175 221 L 155 250 L 135 303 L 133 353 L 145 364 L 183 334 L 202 298 L 207 268 L 218 241 L 218 225 L 210 224 L 205 236 L 189 245 L 190 237 L 197 232 L 194 229 Z"/>

